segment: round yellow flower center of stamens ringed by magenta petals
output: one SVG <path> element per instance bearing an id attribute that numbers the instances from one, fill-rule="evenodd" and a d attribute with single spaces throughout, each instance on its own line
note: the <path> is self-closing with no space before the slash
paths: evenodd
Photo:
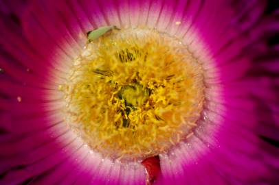
<path id="1" fill-rule="evenodd" d="M 89 42 L 63 84 L 67 123 L 104 157 L 142 160 L 192 132 L 203 71 L 176 38 L 113 30 Z"/>

